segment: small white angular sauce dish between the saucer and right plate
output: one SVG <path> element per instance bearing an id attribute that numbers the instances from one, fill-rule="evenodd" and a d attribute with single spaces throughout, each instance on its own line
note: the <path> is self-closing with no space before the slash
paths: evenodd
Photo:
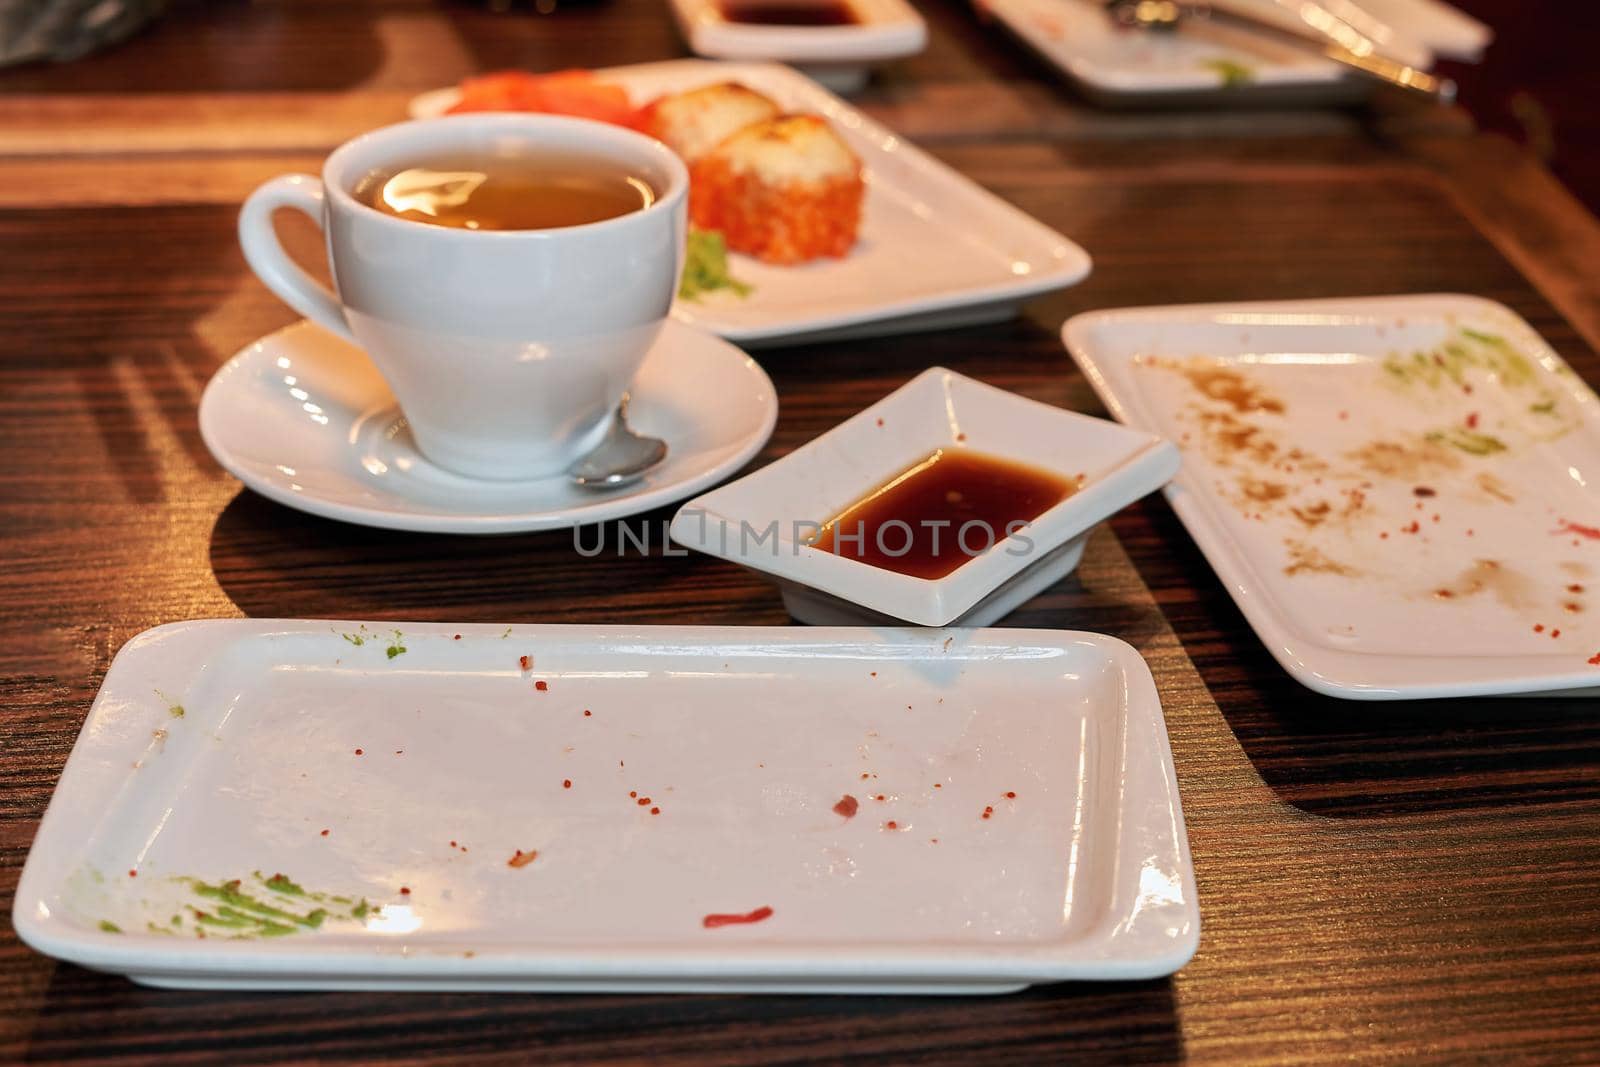
<path id="1" fill-rule="evenodd" d="M 906 520 L 925 512 L 907 496 L 910 483 L 950 461 L 971 467 L 966 494 L 1010 509 L 995 512 L 1006 518 L 917 518 L 922 533 L 912 530 Z M 776 579 L 803 622 L 990 625 L 1067 576 L 1090 531 L 1162 488 L 1178 464 L 1178 450 L 1154 434 L 936 366 L 778 462 L 690 501 L 672 537 Z M 1024 514 L 1034 485 L 1040 507 Z M 1045 493 L 1050 485 L 1059 490 Z M 946 499 L 962 498 L 950 490 Z M 880 517 L 864 541 L 848 533 L 866 530 L 856 517 L 872 504 L 894 510 L 896 501 L 904 515 Z M 922 566 L 925 544 L 942 561 Z M 867 555 L 877 561 L 853 558 Z"/>

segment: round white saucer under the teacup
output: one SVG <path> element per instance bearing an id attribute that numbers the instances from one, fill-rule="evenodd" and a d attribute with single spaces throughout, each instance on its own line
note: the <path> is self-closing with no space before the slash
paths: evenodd
<path id="1" fill-rule="evenodd" d="M 611 493 L 565 478 L 480 482 L 429 462 L 371 360 L 309 322 L 229 360 L 200 398 L 200 437 L 262 496 L 325 518 L 421 533 L 518 533 L 605 522 L 714 485 L 760 451 L 778 394 L 757 363 L 667 322 L 638 378 L 629 424 L 667 442 L 667 461 Z"/>

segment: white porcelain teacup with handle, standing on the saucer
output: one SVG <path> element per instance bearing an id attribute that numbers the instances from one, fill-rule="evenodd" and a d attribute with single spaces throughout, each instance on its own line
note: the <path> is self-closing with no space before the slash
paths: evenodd
<path id="1" fill-rule="evenodd" d="M 352 189 L 450 157 L 594 158 L 658 197 L 602 222 L 467 230 L 386 214 Z M 245 259 L 317 325 L 371 357 L 418 448 L 475 478 L 539 478 L 598 445 L 667 317 L 683 267 L 688 173 L 643 134 L 554 115 L 453 115 L 374 130 L 285 174 L 238 216 Z M 325 232 L 338 294 L 285 254 L 277 208 Z"/>

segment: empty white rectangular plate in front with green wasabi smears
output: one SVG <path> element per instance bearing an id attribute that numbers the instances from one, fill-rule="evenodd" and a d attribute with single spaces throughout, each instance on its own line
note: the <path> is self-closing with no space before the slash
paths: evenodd
<path id="1" fill-rule="evenodd" d="M 998 993 L 1198 939 L 1149 669 L 1054 630 L 158 627 L 13 920 L 216 989 Z"/>

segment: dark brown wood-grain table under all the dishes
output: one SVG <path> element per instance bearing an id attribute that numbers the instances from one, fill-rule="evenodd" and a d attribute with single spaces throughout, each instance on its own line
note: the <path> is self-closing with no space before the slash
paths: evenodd
<path id="1" fill-rule="evenodd" d="M 960 0 L 864 106 L 1061 229 L 1093 277 L 981 330 L 773 350 L 770 461 L 930 363 L 1098 411 L 1070 314 L 1466 291 L 1600 381 L 1600 227 L 1454 112 L 1106 114 Z M 125 48 L 0 74 L 0 909 L 110 656 L 203 616 L 782 624 L 702 557 L 565 533 L 344 526 L 245 493 L 200 389 L 293 320 L 234 213 L 416 90 L 682 54 L 659 0 L 179 5 Z M 291 240 L 317 258 L 315 237 Z M 666 510 L 643 517 L 659 523 Z M 1134 643 L 1162 689 L 1200 885 L 1176 977 L 973 1000 L 213 995 L 139 989 L 0 920 L 0 1059 L 1326 1062 L 1600 1056 L 1600 715 L 1581 699 L 1346 704 L 1272 662 L 1157 498 L 1018 625 Z"/>

